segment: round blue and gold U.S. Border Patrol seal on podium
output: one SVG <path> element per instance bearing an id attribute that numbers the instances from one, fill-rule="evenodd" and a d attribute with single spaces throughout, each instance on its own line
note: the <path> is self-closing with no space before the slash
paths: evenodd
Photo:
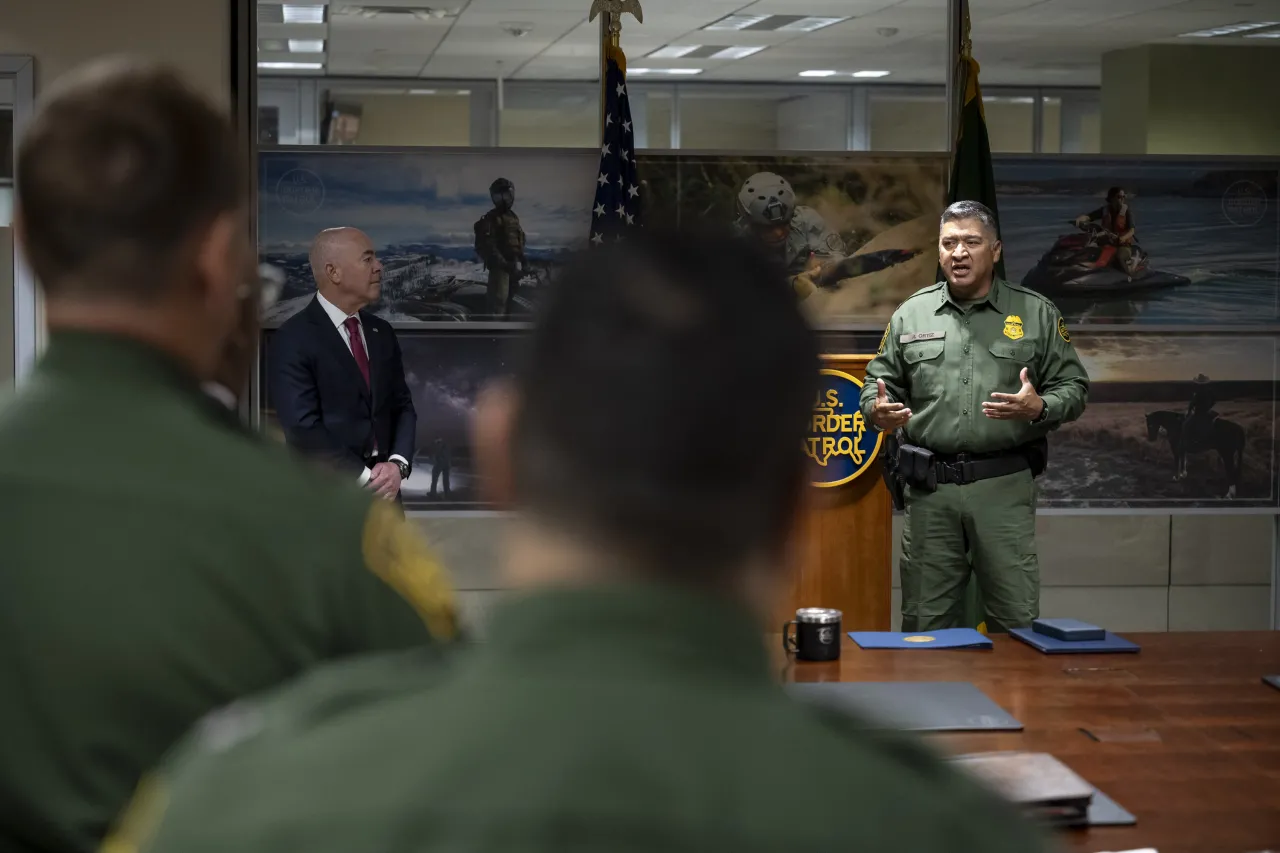
<path id="1" fill-rule="evenodd" d="M 813 484 L 832 488 L 851 482 L 872 466 L 883 434 L 868 424 L 858 409 L 863 393 L 859 379 L 829 368 L 819 375 L 804 450 Z"/>

